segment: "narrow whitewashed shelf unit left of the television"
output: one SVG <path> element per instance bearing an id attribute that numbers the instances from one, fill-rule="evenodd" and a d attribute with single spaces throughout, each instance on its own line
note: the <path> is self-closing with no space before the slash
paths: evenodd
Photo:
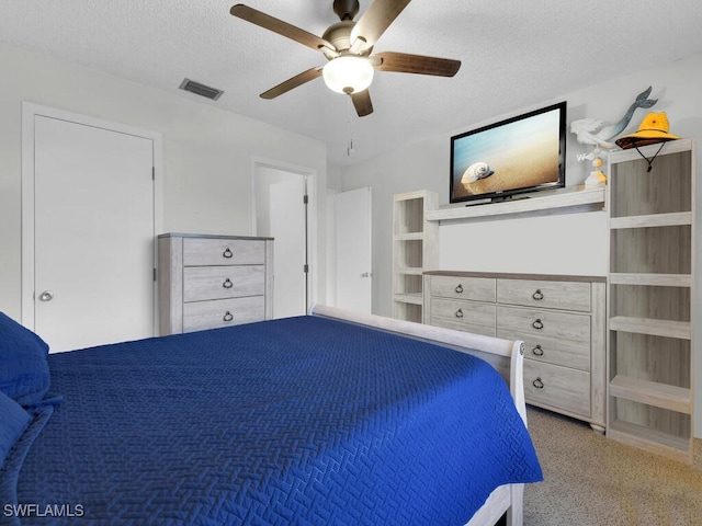
<path id="1" fill-rule="evenodd" d="M 393 197 L 393 317 L 421 323 L 422 273 L 439 260 L 439 224 L 427 213 L 439 207 L 439 194 L 427 190 Z"/>

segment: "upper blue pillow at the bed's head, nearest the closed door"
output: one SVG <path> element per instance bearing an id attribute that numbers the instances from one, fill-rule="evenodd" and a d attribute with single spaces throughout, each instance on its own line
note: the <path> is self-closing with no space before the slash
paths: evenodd
<path id="1" fill-rule="evenodd" d="M 0 391 L 21 405 L 38 403 L 48 391 L 48 345 L 0 312 Z"/>

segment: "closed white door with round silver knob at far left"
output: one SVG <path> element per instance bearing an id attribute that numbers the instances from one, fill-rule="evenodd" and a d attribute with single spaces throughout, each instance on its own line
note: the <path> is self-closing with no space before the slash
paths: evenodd
<path id="1" fill-rule="evenodd" d="M 52 352 L 154 334 L 154 141 L 34 117 L 34 330 Z"/>

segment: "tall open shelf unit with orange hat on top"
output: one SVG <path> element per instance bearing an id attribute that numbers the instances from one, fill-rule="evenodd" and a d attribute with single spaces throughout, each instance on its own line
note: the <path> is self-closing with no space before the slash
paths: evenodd
<path id="1" fill-rule="evenodd" d="M 610 156 L 607 435 L 691 464 L 694 142 L 659 148 Z"/>

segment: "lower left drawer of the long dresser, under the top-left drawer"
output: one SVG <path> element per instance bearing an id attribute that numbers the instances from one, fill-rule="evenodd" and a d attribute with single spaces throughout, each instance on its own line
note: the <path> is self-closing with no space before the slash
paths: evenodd
<path id="1" fill-rule="evenodd" d="M 495 335 L 495 305 L 431 298 L 432 325 Z"/>

